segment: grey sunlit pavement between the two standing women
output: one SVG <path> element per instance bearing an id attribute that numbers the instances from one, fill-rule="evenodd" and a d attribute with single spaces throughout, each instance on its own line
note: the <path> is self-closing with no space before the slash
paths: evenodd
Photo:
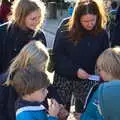
<path id="1" fill-rule="evenodd" d="M 46 17 L 46 20 L 42 26 L 42 30 L 45 34 L 48 48 L 53 47 L 57 28 L 58 28 L 61 20 L 66 17 L 68 17 L 67 10 L 62 10 L 62 11 L 57 10 L 57 18 L 56 19 L 49 19 Z"/>

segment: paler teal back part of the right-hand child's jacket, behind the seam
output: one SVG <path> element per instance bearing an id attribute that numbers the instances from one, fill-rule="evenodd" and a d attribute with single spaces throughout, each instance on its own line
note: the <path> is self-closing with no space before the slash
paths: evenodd
<path id="1" fill-rule="evenodd" d="M 105 120 L 120 120 L 120 80 L 102 84 L 98 97 L 102 116 Z"/>

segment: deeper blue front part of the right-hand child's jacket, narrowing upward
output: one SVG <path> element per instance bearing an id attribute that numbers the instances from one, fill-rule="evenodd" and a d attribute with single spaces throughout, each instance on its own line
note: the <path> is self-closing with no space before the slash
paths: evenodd
<path id="1" fill-rule="evenodd" d="M 100 114 L 98 89 L 90 98 L 90 101 L 87 104 L 84 113 L 81 115 L 80 120 L 104 120 L 102 115 Z"/>

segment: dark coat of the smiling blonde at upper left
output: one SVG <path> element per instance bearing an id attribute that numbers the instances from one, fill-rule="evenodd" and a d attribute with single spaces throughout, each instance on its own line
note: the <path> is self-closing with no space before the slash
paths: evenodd
<path id="1" fill-rule="evenodd" d="M 35 34 L 33 30 L 23 30 L 16 24 L 0 25 L 0 73 L 6 72 L 11 60 L 31 40 L 42 40 L 43 44 L 46 45 L 42 31 Z"/>

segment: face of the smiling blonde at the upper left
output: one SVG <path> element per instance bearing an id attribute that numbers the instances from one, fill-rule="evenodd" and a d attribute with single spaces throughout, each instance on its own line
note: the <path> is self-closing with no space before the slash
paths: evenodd
<path id="1" fill-rule="evenodd" d="M 35 30 L 40 23 L 40 10 L 35 10 L 25 17 L 25 26 L 29 29 Z"/>

